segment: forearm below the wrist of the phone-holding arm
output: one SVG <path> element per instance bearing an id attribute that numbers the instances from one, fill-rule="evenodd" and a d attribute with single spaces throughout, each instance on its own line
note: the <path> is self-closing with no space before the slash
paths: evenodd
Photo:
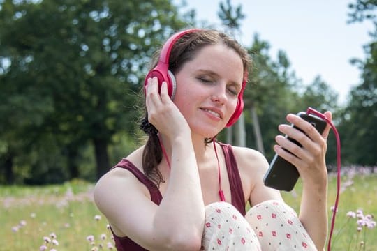
<path id="1" fill-rule="evenodd" d="M 327 179 L 321 184 L 304 184 L 299 218 L 317 249 L 323 250 L 327 237 Z"/>

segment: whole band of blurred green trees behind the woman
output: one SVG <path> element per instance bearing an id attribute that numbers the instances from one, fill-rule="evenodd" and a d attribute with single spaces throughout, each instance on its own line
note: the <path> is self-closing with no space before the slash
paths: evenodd
<path id="1" fill-rule="evenodd" d="M 376 1 L 356 0 L 350 22 L 376 24 L 375 10 Z M 229 0 L 218 15 L 232 34 L 245 17 Z M 190 24 L 195 10 L 179 13 L 168 0 L 0 1 L 0 183 L 95 181 L 140 146 L 140 89 L 149 57 Z M 353 60 L 362 84 L 346 107 L 338 107 L 337 93 L 320 76 L 304 86 L 288 55 L 279 51 L 272 59 L 269 43 L 256 34 L 246 46 L 253 58 L 244 93 L 246 145 L 256 148 L 258 137 L 251 114 L 271 160 L 276 127 L 288 112 L 330 109 L 343 161 L 376 165 L 377 31 L 371 38 L 367 59 Z M 332 133 L 328 144 L 331 164 Z"/>

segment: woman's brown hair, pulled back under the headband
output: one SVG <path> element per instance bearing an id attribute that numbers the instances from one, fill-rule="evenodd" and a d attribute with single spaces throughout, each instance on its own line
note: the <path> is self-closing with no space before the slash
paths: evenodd
<path id="1" fill-rule="evenodd" d="M 193 33 L 186 33 L 182 38 L 179 38 L 170 52 L 169 70 L 173 74 L 177 74 L 184 66 L 184 63 L 193 60 L 202 47 L 215 45 L 217 43 L 223 43 L 232 50 L 235 50 L 242 59 L 244 72 L 249 70 L 251 58 L 246 50 L 237 40 L 213 29 L 200 29 Z M 157 65 L 160 52 L 161 49 L 152 56 L 151 69 Z M 158 130 L 148 122 L 147 111 L 145 111 L 145 117 L 142 119 L 140 128 L 149 135 L 142 153 L 142 167 L 145 175 L 156 185 L 159 185 L 161 182 L 165 182 L 161 172 L 156 168 L 162 160 L 162 150 L 158 139 Z M 211 141 L 212 139 L 205 139 L 205 143 Z"/>

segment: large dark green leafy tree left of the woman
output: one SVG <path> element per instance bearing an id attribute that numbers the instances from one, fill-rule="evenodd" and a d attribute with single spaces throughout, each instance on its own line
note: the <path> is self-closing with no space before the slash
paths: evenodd
<path id="1" fill-rule="evenodd" d="M 34 142 L 52 135 L 70 167 L 80 148 L 93 144 L 99 178 L 110 167 L 112 137 L 135 131 L 135 93 L 149 56 L 186 23 L 168 0 L 3 1 L 0 59 L 10 65 L 1 73 L 1 93 L 6 88 L 10 99 L 24 98 L 30 116 L 39 118 L 29 123 Z M 22 137 L 15 123 L 1 135 L 6 144 Z"/>

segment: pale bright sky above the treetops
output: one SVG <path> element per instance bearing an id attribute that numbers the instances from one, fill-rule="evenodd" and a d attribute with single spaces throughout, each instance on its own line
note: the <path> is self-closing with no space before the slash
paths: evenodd
<path id="1" fill-rule="evenodd" d="M 219 0 L 188 0 L 197 20 L 220 24 Z M 371 22 L 348 24 L 346 0 L 231 0 L 241 5 L 246 15 L 239 40 L 250 46 L 254 34 L 269 43 L 269 54 L 276 59 L 278 50 L 286 52 L 290 69 L 304 84 L 311 84 L 320 75 L 339 95 L 339 104 L 346 103 L 352 86 L 361 83 L 360 69 L 350 59 L 365 59 L 363 45 L 371 41 Z M 175 3 L 180 3 L 176 0 Z M 226 3 L 226 0 L 223 0 Z"/>

